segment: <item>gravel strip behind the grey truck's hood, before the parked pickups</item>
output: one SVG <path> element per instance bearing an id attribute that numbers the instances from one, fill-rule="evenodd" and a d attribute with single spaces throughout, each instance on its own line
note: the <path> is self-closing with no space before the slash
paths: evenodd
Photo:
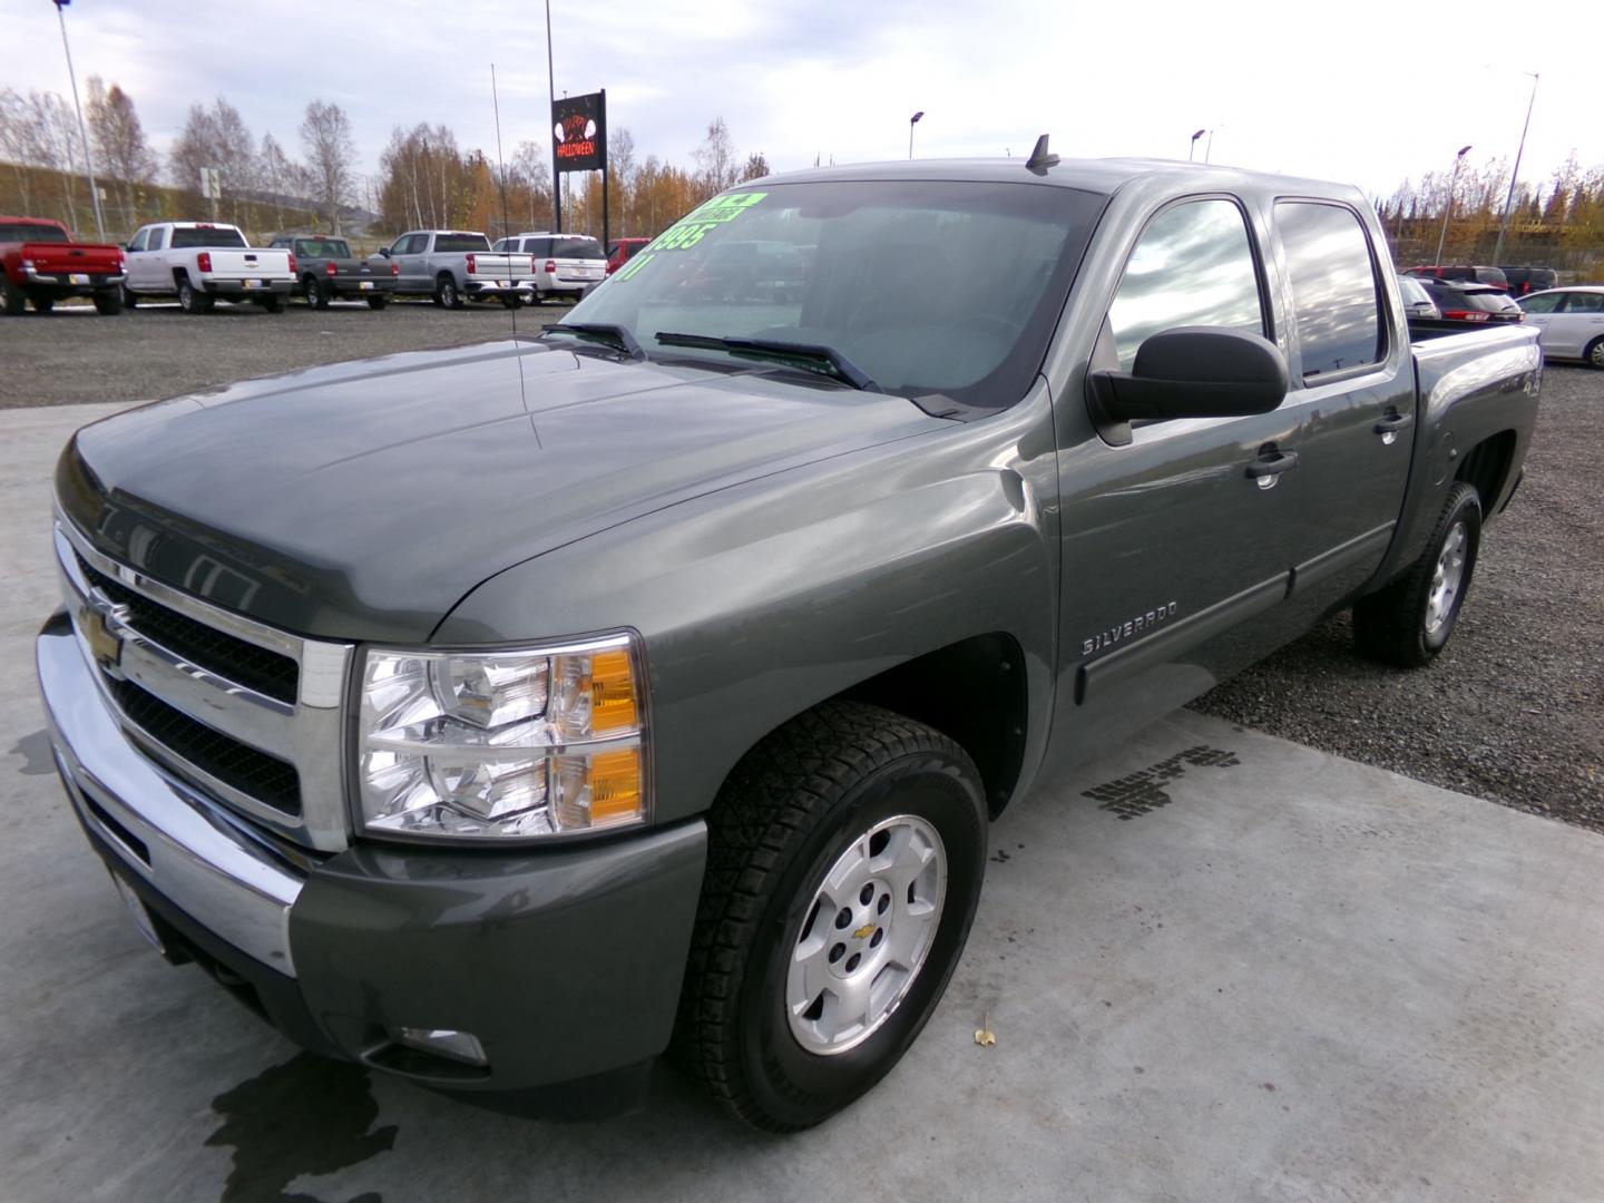
<path id="1" fill-rule="evenodd" d="M 518 310 L 518 329 L 561 321 L 566 305 Z M 462 346 L 512 332 L 502 305 L 436 310 L 391 302 L 374 313 L 361 302 L 284 313 L 218 305 L 189 316 L 176 305 L 140 305 L 115 318 L 58 305 L 50 316 L 0 318 L 0 409 L 80 401 L 154 401 L 255 375 L 332 364 L 369 354 Z"/>

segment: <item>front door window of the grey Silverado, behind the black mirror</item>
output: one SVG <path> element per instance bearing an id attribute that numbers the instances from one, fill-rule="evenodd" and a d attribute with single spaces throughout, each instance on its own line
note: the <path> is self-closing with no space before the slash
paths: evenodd
<path id="1" fill-rule="evenodd" d="M 1241 210 L 1225 199 L 1187 200 L 1155 217 L 1124 266 L 1108 308 L 1120 371 L 1136 350 L 1177 326 L 1264 334 L 1259 271 Z"/>

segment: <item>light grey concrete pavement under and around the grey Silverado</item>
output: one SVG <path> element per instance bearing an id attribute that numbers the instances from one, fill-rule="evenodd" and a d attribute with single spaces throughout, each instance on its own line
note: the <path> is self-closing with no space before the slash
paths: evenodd
<path id="1" fill-rule="evenodd" d="M 0 414 L 0 1200 L 1604 1198 L 1604 837 L 1185 712 L 994 826 L 935 1019 L 812 1132 L 297 1054 L 148 950 L 50 768 L 50 468 L 114 409 Z"/>

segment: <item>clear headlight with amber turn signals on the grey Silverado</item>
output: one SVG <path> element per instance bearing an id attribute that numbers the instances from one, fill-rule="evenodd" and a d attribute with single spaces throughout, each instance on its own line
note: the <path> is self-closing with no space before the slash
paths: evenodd
<path id="1" fill-rule="evenodd" d="M 505 651 L 369 648 L 363 824 L 404 836 L 552 836 L 646 818 L 630 635 Z"/>

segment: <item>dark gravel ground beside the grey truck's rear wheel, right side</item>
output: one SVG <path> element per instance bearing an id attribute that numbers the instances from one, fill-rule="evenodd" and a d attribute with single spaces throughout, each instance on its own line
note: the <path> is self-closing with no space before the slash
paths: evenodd
<path id="1" fill-rule="evenodd" d="M 1604 831 L 1601 456 L 1604 372 L 1549 366 L 1525 483 L 1434 664 L 1359 659 L 1344 613 L 1193 709 Z"/>

